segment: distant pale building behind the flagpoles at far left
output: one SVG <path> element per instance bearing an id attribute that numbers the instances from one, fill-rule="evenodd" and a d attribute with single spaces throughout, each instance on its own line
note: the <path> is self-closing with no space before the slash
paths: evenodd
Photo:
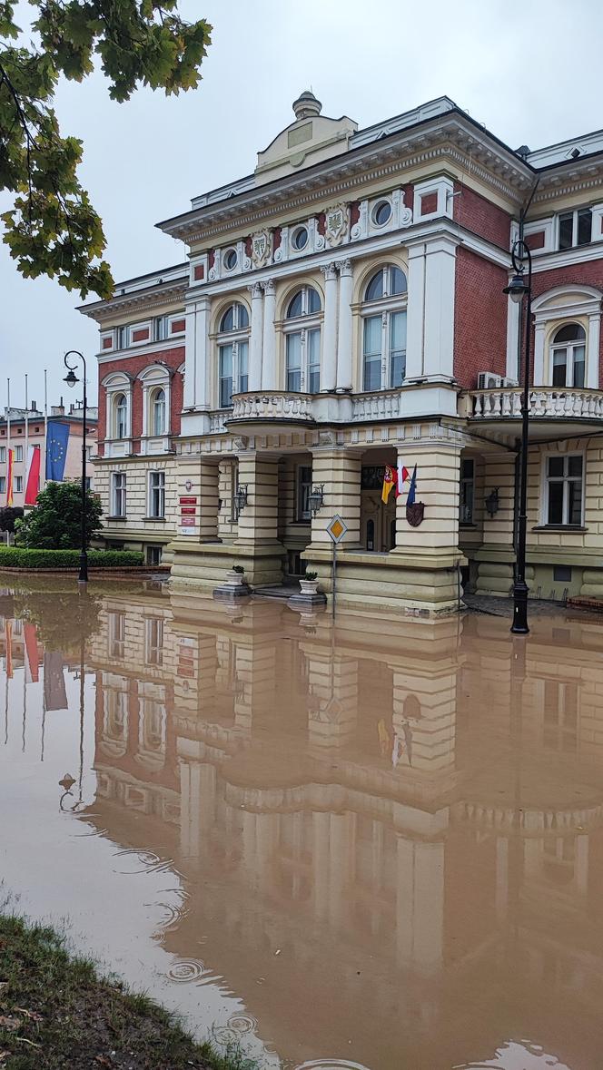
<path id="1" fill-rule="evenodd" d="M 27 414 L 27 442 L 30 446 L 40 446 L 41 450 L 41 474 L 40 489 L 44 489 L 45 472 L 45 430 L 44 413 L 32 402 L 31 409 L 4 409 L 4 415 L 0 416 L 0 505 L 6 504 L 6 472 L 7 443 L 9 443 L 9 422 L 11 429 L 11 449 L 14 450 L 13 470 L 13 505 L 24 504 L 26 484 L 26 414 Z M 63 479 L 81 478 L 81 431 L 84 426 L 84 410 L 77 404 L 71 404 L 69 412 L 65 412 L 63 400 L 58 406 L 52 406 L 48 413 L 48 422 L 66 424 L 69 426 L 67 453 L 65 460 L 65 471 Z M 88 486 L 93 488 L 94 467 L 92 456 L 96 452 L 96 431 L 99 425 L 99 410 L 88 408 L 86 418 L 86 450 L 87 464 L 86 472 Z"/>

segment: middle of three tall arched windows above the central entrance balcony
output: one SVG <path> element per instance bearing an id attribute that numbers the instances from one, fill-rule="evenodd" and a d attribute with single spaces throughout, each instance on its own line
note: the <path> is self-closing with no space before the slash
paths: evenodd
<path id="1" fill-rule="evenodd" d="M 320 297 L 303 286 L 285 314 L 285 388 L 318 394 L 320 389 Z"/>

